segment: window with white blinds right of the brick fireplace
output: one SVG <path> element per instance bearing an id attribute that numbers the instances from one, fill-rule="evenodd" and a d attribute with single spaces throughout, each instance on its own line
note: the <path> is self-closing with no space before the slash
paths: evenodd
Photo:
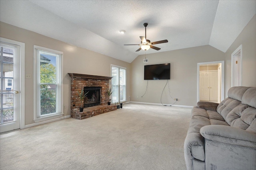
<path id="1" fill-rule="evenodd" d="M 126 100 L 126 68 L 111 66 L 112 75 L 112 103 Z"/>

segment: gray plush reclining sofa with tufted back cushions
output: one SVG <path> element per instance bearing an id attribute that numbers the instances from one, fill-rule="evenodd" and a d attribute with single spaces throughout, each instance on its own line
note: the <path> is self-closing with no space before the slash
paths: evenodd
<path id="1" fill-rule="evenodd" d="M 256 170 L 256 87 L 232 87 L 220 104 L 198 102 L 184 156 L 188 170 Z"/>

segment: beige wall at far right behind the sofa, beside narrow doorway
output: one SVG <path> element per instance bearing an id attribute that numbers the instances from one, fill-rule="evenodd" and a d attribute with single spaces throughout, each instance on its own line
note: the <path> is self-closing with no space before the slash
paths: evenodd
<path id="1" fill-rule="evenodd" d="M 225 89 L 231 87 L 231 54 L 242 44 L 242 86 L 256 87 L 256 15 L 225 53 Z"/>

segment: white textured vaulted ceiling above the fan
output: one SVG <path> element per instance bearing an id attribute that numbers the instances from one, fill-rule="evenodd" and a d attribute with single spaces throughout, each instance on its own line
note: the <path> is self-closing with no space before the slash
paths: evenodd
<path id="1" fill-rule="evenodd" d="M 256 0 L 0 0 L 0 21 L 131 63 L 140 37 L 159 51 L 211 45 L 226 52 L 256 14 Z M 121 29 L 126 33 L 121 34 Z"/>

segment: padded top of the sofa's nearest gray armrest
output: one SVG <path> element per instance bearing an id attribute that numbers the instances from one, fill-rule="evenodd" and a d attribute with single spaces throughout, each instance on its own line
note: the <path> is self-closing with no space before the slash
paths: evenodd
<path id="1" fill-rule="evenodd" d="M 243 129 L 226 125 L 206 125 L 200 129 L 200 133 L 208 140 L 256 149 L 256 134 Z"/>

